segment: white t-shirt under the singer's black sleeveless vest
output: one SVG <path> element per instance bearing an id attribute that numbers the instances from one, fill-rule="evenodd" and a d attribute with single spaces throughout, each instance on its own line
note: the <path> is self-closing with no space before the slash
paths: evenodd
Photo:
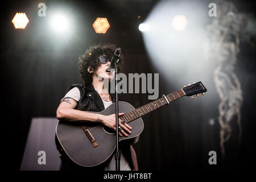
<path id="1" fill-rule="evenodd" d="M 77 102 L 80 100 L 81 96 L 80 96 L 80 90 L 77 87 L 72 88 L 71 90 L 68 91 L 67 94 L 65 94 L 65 97 L 70 97 L 73 98 L 74 100 L 76 100 Z M 102 100 L 105 109 L 112 105 L 112 101 L 104 101 Z M 120 148 L 120 154 L 121 154 L 121 158 L 120 158 L 120 170 L 121 171 L 131 171 L 131 168 L 129 166 L 129 163 L 127 161 L 127 159 L 125 158 L 125 156 L 122 153 L 122 148 Z M 108 166 L 105 167 L 105 171 L 115 171 L 115 157 L 113 155 L 112 159 L 110 160 Z"/>

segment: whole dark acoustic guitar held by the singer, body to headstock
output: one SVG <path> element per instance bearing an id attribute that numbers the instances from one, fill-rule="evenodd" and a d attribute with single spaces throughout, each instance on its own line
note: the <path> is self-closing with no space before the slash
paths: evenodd
<path id="1" fill-rule="evenodd" d="M 170 104 L 170 102 L 177 100 L 183 96 L 191 96 L 196 94 L 198 97 L 200 93 L 204 94 L 207 89 L 202 82 L 184 86 L 183 89 L 177 90 L 174 93 L 168 94 L 135 109 L 128 102 L 119 101 L 119 113 L 125 113 L 119 118 L 129 123 L 133 128 L 128 137 L 119 136 L 119 141 L 129 140 L 135 143 L 139 135 L 142 133 L 144 124 L 142 116 L 150 113 L 152 110 L 158 109 L 161 106 Z M 93 113 L 93 112 L 91 112 Z M 110 115 L 115 114 L 115 104 L 110 105 L 105 110 L 98 112 L 98 114 Z M 115 131 L 109 129 L 105 125 L 96 122 L 64 122 L 59 121 L 56 126 L 56 137 L 63 147 L 63 150 L 68 157 L 83 167 L 94 167 L 104 163 L 112 156 L 115 150 Z"/>

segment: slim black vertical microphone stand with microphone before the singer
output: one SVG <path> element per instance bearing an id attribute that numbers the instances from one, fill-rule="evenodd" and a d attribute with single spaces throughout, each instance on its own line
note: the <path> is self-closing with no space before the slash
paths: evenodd
<path id="1" fill-rule="evenodd" d="M 120 171 L 120 152 L 119 152 L 119 121 L 118 121 L 118 92 L 117 92 L 117 75 L 118 75 L 118 62 L 121 51 L 119 52 L 118 59 L 114 62 L 115 68 L 115 126 L 116 126 L 116 146 L 115 152 L 115 171 Z"/>

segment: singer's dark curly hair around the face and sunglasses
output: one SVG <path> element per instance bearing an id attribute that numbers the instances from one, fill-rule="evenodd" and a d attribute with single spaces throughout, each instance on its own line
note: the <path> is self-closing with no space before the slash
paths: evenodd
<path id="1" fill-rule="evenodd" d="M 105 55 L 109 60 L 112 59 L 114 51 L 117 47 L 114 44 L 95 44 L 90 46 L 83 55 L 79 57 L 79 71 L 82 80 L 84 80 L 85 85 L 92 83 L 93 73 L 88 72 L 88 67 L 95 71 L 101 65 L 101 61 L 98 60 L 98 57 Z M 123 56 L 120 56 L 118 71 L 121 72 L 123 65 Z"/>

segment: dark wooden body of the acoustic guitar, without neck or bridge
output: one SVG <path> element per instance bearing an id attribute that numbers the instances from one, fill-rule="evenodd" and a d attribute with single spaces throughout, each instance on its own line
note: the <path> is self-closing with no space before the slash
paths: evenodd
<path id="1" fill-rule="evenodd" d="M 119 101 L 119 113 L 129 113 L 135 108 L 127 102 Z M 115 103 L 110 105 L 107 109 L 98 112 L 102 115 L 115 114 Z M 131 143 L 138 141 L 139 135 L 142 133 L 144 123 L 141 117 L 129 122 L 133 128 L 128 137 L 120 137 L 119 141 L 126 140 Z M 93 138 L 96 140 L 98 146 L 94 147 L 89 140 L 82 126 L 86 126 Z M 56 136 L 65 153 L 69 158 L 83 167 L 94 167 L 104 163 L 112 156 L 115 147 L 115 131 L 108 127 L 101 125 L 101 123 L 76 123 L 75 121 L 63 122 L 60 121 L 56 126 Z M 123 141 L 124 142 L 124 141 Z"/>

